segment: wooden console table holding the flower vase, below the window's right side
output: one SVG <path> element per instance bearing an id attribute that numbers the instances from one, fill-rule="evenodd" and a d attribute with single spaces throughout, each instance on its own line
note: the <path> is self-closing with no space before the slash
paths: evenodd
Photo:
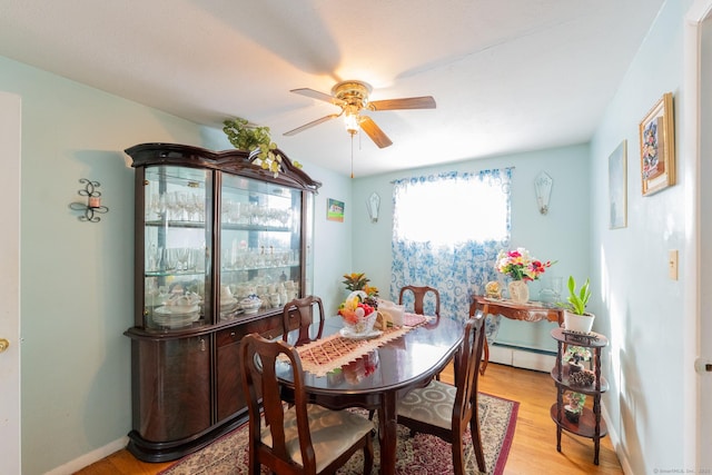
<path id="1" fill-rule="evenodd" d="M 494 299 L 483 295 L 475 295 L 469 304 L 469 316 L 474 316 L 477 310 L 486 317 L 487 315 L 502 315 L 511 320 L 522 321 L 556 321 L 561 327 L 564 323 L 564 309 L 545 307 L 541 301 L 530 301 L 526 304 L 515 304 L 507 299 Z M 490 362 L 490 343 L 485 338 L 485 359 L 482 362 L 479 374 L 484 375 Z"/>

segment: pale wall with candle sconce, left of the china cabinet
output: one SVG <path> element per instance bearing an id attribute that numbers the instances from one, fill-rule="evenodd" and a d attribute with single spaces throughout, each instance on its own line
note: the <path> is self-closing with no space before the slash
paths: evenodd
<path id="1" fill-rule="evenodd" d="M 22 98 L 21 390 L 23 474 L 41 474 L 131 428 L 134 170 L 144 141 L 200 145 L 185 120 L 0 58 Z M 80 222 L 80 178 L 109 212 Z M 86 202 L 86 201 L 85 201 Z"/>

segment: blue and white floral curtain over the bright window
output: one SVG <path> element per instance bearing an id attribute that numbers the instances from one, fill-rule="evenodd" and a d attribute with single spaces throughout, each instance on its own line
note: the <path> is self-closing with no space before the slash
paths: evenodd
<path id="1" fill-rule="evenodd" d="M 472 295 L 497 280 L 495 258 L 508 247 L 511 182 L 510 168 L 394 181 L 392 298 L 427 285 L 441 294 L 442 316 L 466 319 Z M 424 310 L 433 315 L 434 303 Z"/>

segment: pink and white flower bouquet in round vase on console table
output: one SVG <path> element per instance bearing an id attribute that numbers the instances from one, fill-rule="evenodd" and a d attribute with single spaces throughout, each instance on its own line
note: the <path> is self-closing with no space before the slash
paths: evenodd
<path id="1" fill-rule="evenodd" d="M 517 304 L 524 304 L 530 299 L 526 283 L 538 279 L 553 264 L 555 263 L 551 260 L 535 259 L 528 250 L 518 247 L 515 250 L 501 250 L 497 254 L 495 269 L 512 279 L 507 286 L 510 298 Z"/>

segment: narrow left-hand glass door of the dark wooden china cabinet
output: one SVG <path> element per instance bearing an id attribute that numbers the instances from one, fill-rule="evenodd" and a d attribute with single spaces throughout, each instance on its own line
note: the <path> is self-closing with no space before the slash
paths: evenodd
<path id="1" fill-rule="evenodd" d="M 145 328 L 210 324 L 212 171 L 156 166 L 145 175 Z M 206 298 L 206 295 L 208 298 Z"/>

